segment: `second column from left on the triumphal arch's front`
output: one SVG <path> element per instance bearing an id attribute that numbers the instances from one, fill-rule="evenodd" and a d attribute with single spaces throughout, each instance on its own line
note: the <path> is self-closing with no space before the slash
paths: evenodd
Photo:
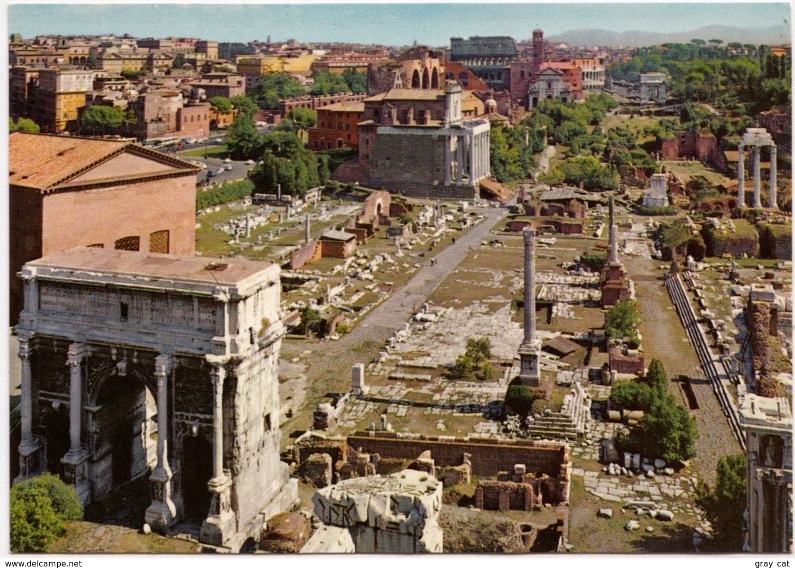
<path id="1" fill-rule="evenodd" d="M 83 504 L 91 497 L 88 479 L 88 453 L 81 444 L 80 423 L 83 414 L 83 359 L 89 351 L 85 344 L 73 343 L 67 352 L 69 367 L 69 451 L 60 462 L 64 465 L 64 482 L 75 486 Z"/>

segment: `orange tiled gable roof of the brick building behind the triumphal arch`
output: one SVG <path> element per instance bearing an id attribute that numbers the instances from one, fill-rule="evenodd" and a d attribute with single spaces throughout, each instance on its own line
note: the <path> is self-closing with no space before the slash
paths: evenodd
<path id="1" fill-rule="evenodd" d="M 188 161 L 132 142 L 14 132 L 9 136 L 9 183 L 53 189 L 122 152 L 133 152 L 173 166 L 173 173 L 197 168 Z M 159 174 L 164 173 L 158 170 Z M 172 172 L 168 172 L 172 173 Z M 145 174 L 138 177 L 145 177 Z"/>

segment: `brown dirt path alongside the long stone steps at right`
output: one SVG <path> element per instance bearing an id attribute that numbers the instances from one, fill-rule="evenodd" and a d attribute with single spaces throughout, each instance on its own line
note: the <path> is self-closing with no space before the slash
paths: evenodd
<path id="1" fill-rule="evenodd" d="M 652 358 L 662 361 L 669 378 L 676 375 L 696 377 L 691 380 L 693 394 L 699 408 L 692 410 L 696 418 L 699 438 L 696 440 L 696 457 L 692 469 L 709 483 L 715 482 L 718 459 L 729 453 L 741 451 L 740 445 L 727 422 L 715 392 L 701 371 L 696 350 L 684 333 L 677 311 L 662 283 L 661 271 L 654 268 L 652 260 L 626 259 L 630 278 L 634 279 L 635 292 L 641 307 L 641 334 L 646 351 L 646 364 Z M 669 390 L 679 402 L 688 407 L 676 383 Z"/>

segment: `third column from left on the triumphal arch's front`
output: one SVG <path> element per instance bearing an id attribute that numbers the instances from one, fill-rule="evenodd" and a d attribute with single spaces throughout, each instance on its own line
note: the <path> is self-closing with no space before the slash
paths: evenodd
<path id="1" fill-rule="evenodd" d="M 172 500 L 172 472 L 169 465 L 169 375 L 173 371 L 171 355 L 158 355 L 154 360 L 157 379 L 157 466 L 149 482 L 152 484 L 152 504 L 144 519 L 153 531 L 165 532 L 176 519 L 176 505 Z"/>

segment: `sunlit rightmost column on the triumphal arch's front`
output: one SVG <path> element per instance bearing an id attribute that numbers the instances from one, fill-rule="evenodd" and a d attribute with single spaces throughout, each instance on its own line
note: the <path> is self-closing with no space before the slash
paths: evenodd
<path id="1" fill-rule="evenodd" d="M 235 513 L 231 508 L 232 479 L 223 470 L 223 380 L 227 376 L 226 357 L 207 355 L 212 365 L 212 478 L 207 489 L 212 495 L 210 512 L 201 527 L 201 541 L 221 546 L 235 533 Z"/>

